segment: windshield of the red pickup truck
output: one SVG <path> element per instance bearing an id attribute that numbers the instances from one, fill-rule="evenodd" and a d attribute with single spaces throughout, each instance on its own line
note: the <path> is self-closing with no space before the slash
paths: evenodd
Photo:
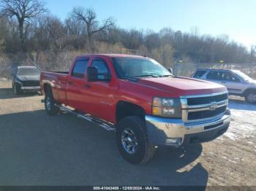
<path id="1" fill-rule="evenodd" d="M 149 58 L 113 58 L 119 78 L 173 76 L 164 66 Z"/>

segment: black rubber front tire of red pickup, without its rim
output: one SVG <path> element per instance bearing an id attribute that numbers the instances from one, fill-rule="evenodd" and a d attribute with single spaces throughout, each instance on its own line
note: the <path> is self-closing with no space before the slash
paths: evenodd
<path id="1" fill-rule="evenodd" d="M 117 126 L 116 141 L 125 160 L 132 164 L 146 163 L 154 156 L 155 146 L 148 141 L 145 120 L 138 116 L 124 117 Z M 138 143 L 133 154 L 128 153 L 122 144 L 122 133 L 127 129 L 132 130 Z"/>

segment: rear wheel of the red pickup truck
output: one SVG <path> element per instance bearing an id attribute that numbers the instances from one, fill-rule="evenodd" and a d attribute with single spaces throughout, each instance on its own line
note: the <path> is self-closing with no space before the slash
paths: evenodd
<path id="1" fill-rule="evenodd" d="M 50 115 L 56 115 L 59 113 L 59 109 L 56 106 L 56 101 L 53 98 L 53 93 L 50 88 L 45 92 L 45 110 Z"/>

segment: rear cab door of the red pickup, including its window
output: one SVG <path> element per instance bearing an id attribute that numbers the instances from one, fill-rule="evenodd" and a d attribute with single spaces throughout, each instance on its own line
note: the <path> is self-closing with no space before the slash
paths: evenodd
<path id="1" fill-rule="evenodd" d="M 89 58 L 79 58 L 73 64 L 72 71 L 67 77 L 67 103 L 75 109 L 82 110 L 83 88 L 86 85 L 86 69 Z"/>

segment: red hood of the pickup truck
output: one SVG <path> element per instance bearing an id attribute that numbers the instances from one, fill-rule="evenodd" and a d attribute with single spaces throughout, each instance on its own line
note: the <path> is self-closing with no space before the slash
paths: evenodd
<path id="1" fill-rule="evenodd" d="M 165 91 L 165 93 L 173 94 L 173 97 L 180 97 L 181 95 L 221 93 L 227 91 L 226 87 L 223 85 L 187 77 L 143 78 L 139 79 L 138 83 Z"/>

